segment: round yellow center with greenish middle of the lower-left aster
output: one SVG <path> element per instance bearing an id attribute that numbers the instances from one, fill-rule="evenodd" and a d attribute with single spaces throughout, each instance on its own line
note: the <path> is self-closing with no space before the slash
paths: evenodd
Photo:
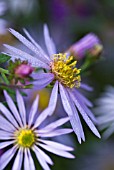
<path id="1" fill-rule="evenodd" d="M 31 129 L 21 129 L 16 132 L 17 144 L 24 148 L 30 148 L 35 142 L 35 133 Z"/>

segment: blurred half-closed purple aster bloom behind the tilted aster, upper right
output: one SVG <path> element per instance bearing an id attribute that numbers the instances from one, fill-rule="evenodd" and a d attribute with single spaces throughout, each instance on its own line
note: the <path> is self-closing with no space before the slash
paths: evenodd
<path id="1" fill-rule="evenodd" d="M 73 54 L 76 59 L 80 60 L 86 55 L 87 52 L 92 53 L 92 50 L 96 50 L 96 54 L 102 51 L 100 40 L 94 33 L 87 34 L 81 40 L 73 44 L 67 51 Z"/>

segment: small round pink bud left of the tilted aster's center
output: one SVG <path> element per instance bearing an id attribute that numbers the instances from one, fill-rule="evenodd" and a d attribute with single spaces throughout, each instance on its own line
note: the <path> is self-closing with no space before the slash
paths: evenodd
<path id="1" fill-rule="evenodd" d="M 28 64 L 21 64 L 15 69 L 15 74 L 18 77 L 27 77 L 34 71 L 34 68 Z"/>

